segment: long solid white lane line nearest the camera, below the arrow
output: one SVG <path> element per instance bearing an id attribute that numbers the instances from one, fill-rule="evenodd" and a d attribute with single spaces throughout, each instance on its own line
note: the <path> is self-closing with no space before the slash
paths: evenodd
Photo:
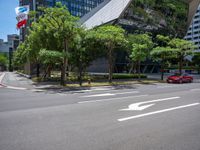
<path id="1" fill-rule="evenodd" d="M 120 118 L 120 119 L 118 119 L 118 121 L 122 122 L 122 121 L 131 120 L 131 119 L 142 118 L 142 117 L 145 117 L 145 116 L 150 116 L 150 115 L 159 114 L 159 113 L 163 113 L 163 112 L 168 112 L 168 111 L 173 111 L 173 110 L 177 110 L 177 109 L 192 107 L 192 106 L 196 106 L 196 105 L 199 105 L 199 104 L 200 103 L 193 103 L 193 104 L 182 105 L 182 106 L 178 106 L 178 107 L 172 107 L 172 108 L 163 109 L 163 110 L 154 111 L 154 112 L 145 113 L 145 114 L 140 114 L 140 115 L 136 115 L 136 116 Z"/>

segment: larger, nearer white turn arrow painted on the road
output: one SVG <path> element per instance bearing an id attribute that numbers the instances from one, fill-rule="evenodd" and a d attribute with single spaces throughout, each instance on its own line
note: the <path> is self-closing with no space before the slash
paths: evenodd
<path id="1" fill-rule="evenodd" d="M 134 110 L 144 110 L 148 107 L 151 107 L 155 104 L 149 104 L 149 105 L 144 105 L 140 106 L 146 103 L 154 103 L 154 102 L 161 102 L 161 101 L 168 101 L 168 100 L 173 100 L 173 99 L 178 99 L 180 97 L 169 97 L 169 98 L 163 98 L 163 99 L 157 99 L 157 100 L 151 100 L 151 101 L 145 101 L 145 102 L 139 102 L 139 103 L 133 103 L 128 106 L 128 108 L 125 109 L 120 109 L 119 111 L 134 111 Z"/>

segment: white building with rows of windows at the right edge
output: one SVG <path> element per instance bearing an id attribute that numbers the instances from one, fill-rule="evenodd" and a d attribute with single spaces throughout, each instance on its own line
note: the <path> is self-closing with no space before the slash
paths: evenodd
<path id="1" fill-rule="evenodd" d="M 194 42 L 197 46 L 197 51 L 200 52 L 200 5 L 193 17 L 185 39 Z"/>

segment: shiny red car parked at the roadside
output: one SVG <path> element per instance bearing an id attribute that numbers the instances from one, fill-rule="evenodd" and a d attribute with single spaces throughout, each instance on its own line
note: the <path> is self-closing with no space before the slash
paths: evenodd
<path id="1" fill-rule="evenodd" d="M 191 83 L 193 81 L 193 77 L 188 74 L 183 75 L 171 75 L 167 77 L 168 83 Z"/>

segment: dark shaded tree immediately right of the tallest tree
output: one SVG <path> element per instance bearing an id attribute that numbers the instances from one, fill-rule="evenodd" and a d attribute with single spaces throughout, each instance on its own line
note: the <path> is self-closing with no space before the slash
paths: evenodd
<path id="1" fill-rule="evenodd" d="M 96 40 L 95 30 L 79 29 L 75 38 L 70 62 L 78 69 L 79 84 L 82 86 L 82 77 L 86 68 L 102 53 L 99 42 Z"/>

